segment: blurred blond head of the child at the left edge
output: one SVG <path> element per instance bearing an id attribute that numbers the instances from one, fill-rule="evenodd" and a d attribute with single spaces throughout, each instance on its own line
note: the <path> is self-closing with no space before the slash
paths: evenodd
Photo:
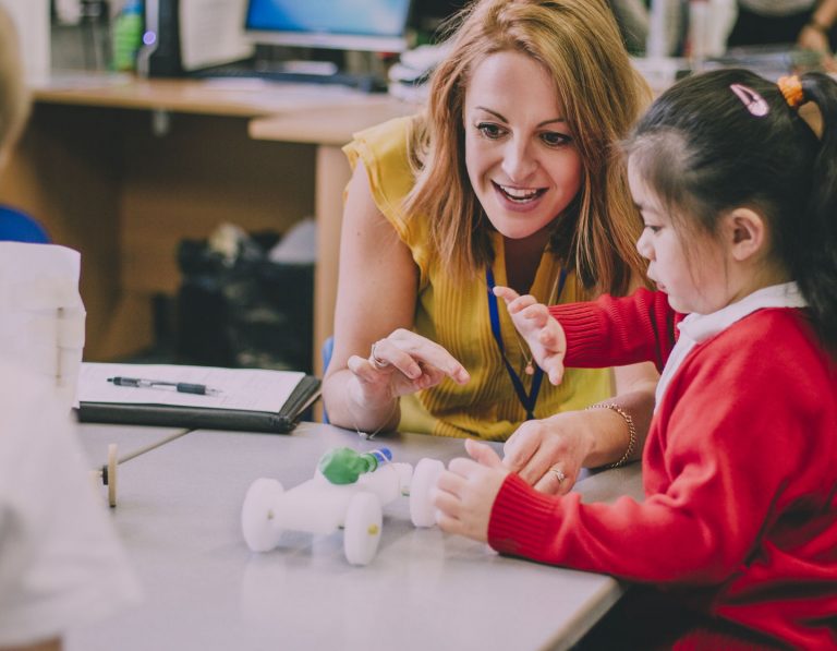
<path id="1" fill-rule="evenodd" d="M 11 16 L 0 7 L 0 165 L 23 130 L 28 112 L 17 32 Z"/>

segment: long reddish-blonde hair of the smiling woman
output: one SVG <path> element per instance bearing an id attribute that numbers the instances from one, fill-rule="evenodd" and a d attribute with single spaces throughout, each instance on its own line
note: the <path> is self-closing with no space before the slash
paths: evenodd
<path id="1" fill-rule="evenodd" d="M 584 288 L 624 293 L 644 265 L 634 246 L 641 221 L 618 143 L 650 92 L 609 8 L 603 0 L 480 0 L 453 24 L 450 53 L 434 73 L 426 113 L 413 125 L 416 183 L 405 214 L 433 216 L 432 245 L 454 277 L 492 261 L 492 227 L 465 169 L 465 91 L 486 57 L 522 52 L 555 80 L 584 170 L 578 196 L 555 221 L 553 252 Z"/>

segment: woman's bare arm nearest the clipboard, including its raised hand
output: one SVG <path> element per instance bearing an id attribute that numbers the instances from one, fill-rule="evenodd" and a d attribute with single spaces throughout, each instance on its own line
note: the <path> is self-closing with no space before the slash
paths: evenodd
<path id="1" fill-rule="evenodd" d="M 324 406 L 336 425 L 369 432 L 396 427 L 399 396 L 446 376 L 460 384 L 470 377 L 450 352 L 413 331 L 420 268 L 378 208 L 361 161 L 349 184 L 341 228 L 335 346 L 323 378 Z"/>

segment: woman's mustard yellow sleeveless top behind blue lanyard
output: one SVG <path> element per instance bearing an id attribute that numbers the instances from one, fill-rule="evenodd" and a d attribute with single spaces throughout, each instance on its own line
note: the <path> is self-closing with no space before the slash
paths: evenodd
<path id="1" fill-rule="evenodd" d="M 525 420 L 526 412 L 492 333 L 487 284 L 484 278 L 470 285 L 452 282 L 428 248 L 432 219 L 420 215 L 405 219 L 399 208 L 413 184 L 408 158 L 411 128 L 411 118 L 391 120 L 355 134 L 343 150 L 353 168 L 359 158 L 363 160 L 375 203 L 410 248 L 418 267 L 418 305 L 413 330 L 444 346 L 468 369 L 471 382 L 459 386 L 446 378 L 435 387 L 402 397 L 399 430 L 505 441 Z M 502 237 L 497 232 L 493 237 L 494 278 L 497 285 L 507 285 Z M 560 273 L 558 262 L 545 251 L 530 293 L 541 301 L 553 298 Z M 578 300 L 583 297 L 574 275 L 568 274 L 559 302 Z M 501 300 L 498 312 L 506 358 L 529 394 L 532 376 L 523 372 L 522 339 Z M 559 411 L 583 409 L 610 395 L 608 370 L 568 369 L 557 387 L 544 376 L 534 414 L 542 419 Z"/>

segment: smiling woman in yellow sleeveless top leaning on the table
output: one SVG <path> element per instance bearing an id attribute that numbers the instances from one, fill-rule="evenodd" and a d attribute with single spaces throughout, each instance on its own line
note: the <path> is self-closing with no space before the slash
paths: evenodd
<path id="1" fill-rule="evenodd" d="M 568 302 L 641 282 L 640 220 L 612 149 L 646 87 L 598 0 L 481 0 L 430 84 L 425 116 L 347 147 L 328 414 L 357 432 L 517 430 L 510 467 L 565 492 L 642 434 L 655 374 L 620 369 L 616 408 L 578 411 L 611 395 L 609 373 L 542 383 L 489 288 Z"/>

